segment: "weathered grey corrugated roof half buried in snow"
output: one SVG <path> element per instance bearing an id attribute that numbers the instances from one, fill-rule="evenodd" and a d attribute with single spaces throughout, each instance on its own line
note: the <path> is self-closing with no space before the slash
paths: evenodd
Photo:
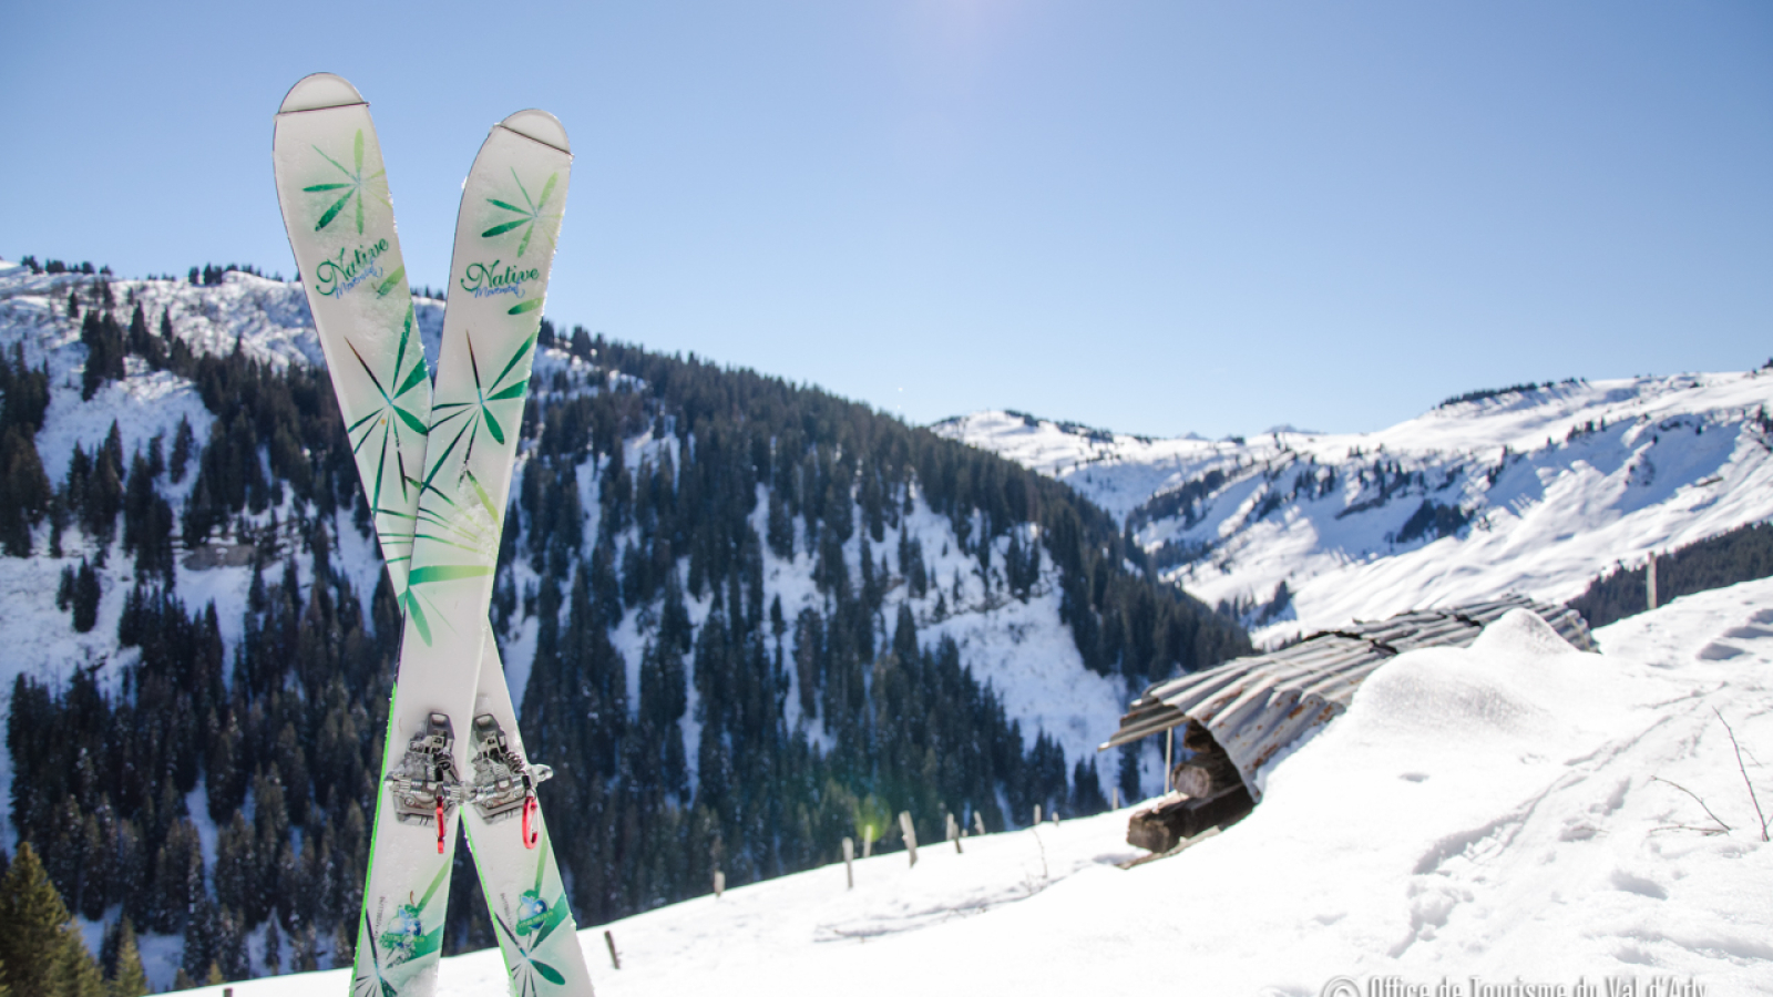
<path id="1" fill-rule="evenodd" d="M 1386 660 L 1417 648 L 1470 648 L 1484 624 L 1511 608 L 1539 614 L 1566 640 L 1594 651 L 1589 626 L 1569 608 L 1523 596 L 1417 610 L 1379 623 L 1316 633 L 1291 648 L 1234 658 L 1168 681 L 1135 699 L 1103 749 L 1195 720 L 1230 754 L 1250 797 L 1255 773 L 1314 727 L 1347 710 L 1355 687 Z"/>

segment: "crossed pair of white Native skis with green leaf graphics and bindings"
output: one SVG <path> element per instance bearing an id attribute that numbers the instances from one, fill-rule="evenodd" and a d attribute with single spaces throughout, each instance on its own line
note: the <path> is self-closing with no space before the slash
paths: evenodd
<path id="1" fill-rule="evenodd" d="M 539 110 L 463 184 L 436 385 L 369 105 L 317 73 L 277 114 L 277 193 L 404 617 L 353 997 L 436 992 L 463 821 L 518 997 L 590 974 L 489 635 L 493 573 L 573 156 Z"/>

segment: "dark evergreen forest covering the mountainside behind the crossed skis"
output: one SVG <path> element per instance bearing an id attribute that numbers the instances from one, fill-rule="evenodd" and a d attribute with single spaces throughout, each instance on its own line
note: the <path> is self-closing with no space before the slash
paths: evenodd
<path id="1" fill-rule="evenodd" d="M 51 483 L 34 442 L 48 374 L 0 358 L 5 553 L 66 559 L 57 605 L 76 630 L 96 626 L 99 575 L 131 557 L 117 639 L 137 649 L 121 671 L 16 681 L 12 825 L 76 914 L 183 935 L 188 979 L 346 962 L 399 610 L 385 575 L 358 591 L 339 564 L 369 514 L 326 373 L 193 355 L 103 279 L 67 307 L 85 394 L 137 355 L 188 378 L 215 420 L 206 440 L 181 422 L 128 454 L 113 428 Z M 863 823 L 892 848 L 897 811 L 934 837 L 947 813 L 998 830 L 1034 804 L 1105 807 L 1094 759 L 1067 770 L 952 640 L 918 635 L 901 596 L 961 612 L 961 578 L 926 568 L 910 509 L 947 520 L 991 598 L 1027 600 L 1044 571 L 1085 665 L 1129 688 L 1248 651 L 1232 623 L 1129 573 L 1142 552 L 1062 484 L 778 378 L 582 328 L 546 339 L 592 367 L 537 378 L 493 619 L 500 640 L 537 621 L 519 711 L 557 773 L 543 802 L 580 924 L 706 892 L 716 867 L 738 885 L 832 862 Z M 227 626 L 181 598 L 176 569 L 222 536 L 254 552 Z M 810 566 L 817 605 L 784 612 L 766 550 Z M 642 639 L 635 688 L 612 640 L 624 624 Z M 1129 756 L 1113 777 L 1136 789 Z M 449 951 L 493 944 L 468 862 L 457 850 Z"/>

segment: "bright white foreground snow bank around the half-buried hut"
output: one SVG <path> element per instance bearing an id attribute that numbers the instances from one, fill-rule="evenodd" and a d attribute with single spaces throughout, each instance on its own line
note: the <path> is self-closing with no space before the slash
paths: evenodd
<path id="1" fill-rule="evenodd" d="M 1596 637 L 1603 653 L 1576 653 L 1511 614 L 1468 649 L 1394 658 L 1277 766 L 1248 820 L 1172 859 L 1117 867 L 1133 855 L 1126 813 L 1103 814 L 968 837 L 965 855 L 929 843 L 915 867 L 904 853 L 856 862 L 855 891 L 826 866 L 628 917 L 608 926 L 621 970 L 601 930 L 580 940 L 603 997 L 1303 997 L 1335 976 L 1360 992 L 1395 977 L 1468 995 L 1473 981 L 1644 993 L 1670 979 L 1769 993 L 1773 844 L 1723 720 L 1768 811 L 1773 580 Z M 1690 830 L 1709 820 L 1675 784 L 1732 828 Z M 496 951 L 445 960 L 440 993 L 496 993 L 502 974 Z"/>

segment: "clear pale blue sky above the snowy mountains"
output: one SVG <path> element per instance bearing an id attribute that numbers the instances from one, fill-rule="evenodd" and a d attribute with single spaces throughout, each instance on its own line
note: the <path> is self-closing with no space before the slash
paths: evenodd
<path id="1" fill-rule="evenodd" d="M 578 161 L 548 312 L 908 420 L 1376 429 L 1773 357 L 1773 5 L 11 4 L 0 255 L 293 271 L 271 115 L 369 98 L 440 286 L 486 130 Z"/>

